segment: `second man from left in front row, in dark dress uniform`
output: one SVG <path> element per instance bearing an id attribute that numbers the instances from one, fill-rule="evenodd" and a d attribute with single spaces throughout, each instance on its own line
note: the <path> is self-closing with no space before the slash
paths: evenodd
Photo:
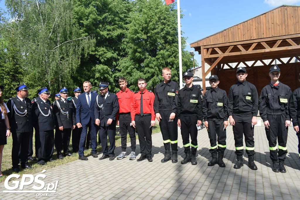
<path id="1" fill-rule="evenodd" d="M 38 164 L 45 165 L 53 160 L 55 118 L 48 89 L 41 88 L 38 94 L 40 97 L 32 104 L 32 121 L 37 127 L 35 146 L 38 150 Z"/>

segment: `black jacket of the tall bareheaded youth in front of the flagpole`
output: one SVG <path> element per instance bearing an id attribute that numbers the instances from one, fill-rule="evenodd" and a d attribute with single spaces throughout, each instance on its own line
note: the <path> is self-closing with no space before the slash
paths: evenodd
<path id="1" fill-rule="evenodd" d="M 177 113 L 178 107 L 178 84 L 172 80 L 168 83 L 162 81 L 156 85 L 154 89 L 155 99 L 154 99 L 154 112 L 155 114 L 160 111 L 170 111 Z"/>

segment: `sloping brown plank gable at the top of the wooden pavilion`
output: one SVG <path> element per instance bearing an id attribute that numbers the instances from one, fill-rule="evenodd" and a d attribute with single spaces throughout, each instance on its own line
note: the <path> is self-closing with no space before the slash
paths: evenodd
<path id="1" fill-rule="evenodd" d="M 201 54 L 200 47 L 221 43 L 255 40 L 300 33 L 300 6 L 282 5 L 266 13 L 241 22 L 223 31 L 193 42 Z"/>

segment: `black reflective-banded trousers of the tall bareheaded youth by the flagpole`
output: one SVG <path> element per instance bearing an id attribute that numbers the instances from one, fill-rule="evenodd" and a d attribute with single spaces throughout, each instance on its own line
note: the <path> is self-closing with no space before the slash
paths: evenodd
<path id="1" fill-rule="evenodd" d="M 163 136 L 165 151 L 170 151 L 170 144 L 172 151 L 177 151 L 178 129 L 177 116 L 173 121 L 169 122 L 172 111 L 160 111 L 161 121 L 159 126 L 161 128 L 161 135 Z"/>

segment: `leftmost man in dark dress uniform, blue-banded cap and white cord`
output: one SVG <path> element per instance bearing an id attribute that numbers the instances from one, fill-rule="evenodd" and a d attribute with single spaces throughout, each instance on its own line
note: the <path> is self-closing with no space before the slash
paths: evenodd
<path id="1" fill-rule="evenodd" d="M 7 114 L 13 137 L 11 159 L 13 171 L 19 172 L 19 158 L 21 167 L 32 169 L 28 164 L 28 149 L 30 134 L 33 131 L 31 117 L 31 101 L 28 97 L 27 86 L 23 83 L 16 87 L 17 95 L 7 101 Z M 32 138 L 31 138 L 32 139 Z"/>

